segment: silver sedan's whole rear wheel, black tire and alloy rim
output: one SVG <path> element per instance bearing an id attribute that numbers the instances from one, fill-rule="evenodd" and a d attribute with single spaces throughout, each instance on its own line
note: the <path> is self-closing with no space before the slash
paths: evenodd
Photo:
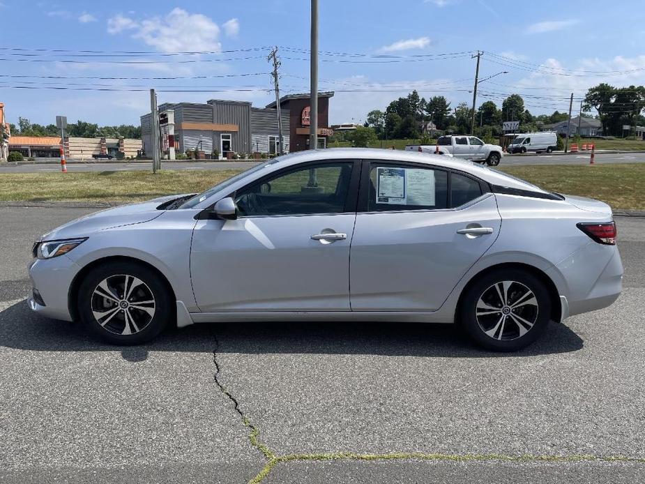
<path id="1" fill-rule="evenodd" d="M 501 301 L 499 294 L 504 293 L 507 301 L 499 308 L 495 301 Z M 465 333 L 491 351 L 517 351 L 531 345 L 544 333 L 550 317 L 547 288 L 521 269 L 500 269 L 481 276 L 469 286 L 457 308 L 457 320 Z"/>

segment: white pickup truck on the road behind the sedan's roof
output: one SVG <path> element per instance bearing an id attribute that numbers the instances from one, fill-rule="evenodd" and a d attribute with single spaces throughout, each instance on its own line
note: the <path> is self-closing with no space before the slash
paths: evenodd
<path id="1" fill-rule="evenodd" d="M 503 156 L 501 146 L 485 144 L 476 136 L 441 136 L 437 144 L 408 144 L 406 151 L 421 151 L 423 153 L 438 153 L 452 155 L 462 160 L 487 163 L 489 166 L 499 165 Z"/>

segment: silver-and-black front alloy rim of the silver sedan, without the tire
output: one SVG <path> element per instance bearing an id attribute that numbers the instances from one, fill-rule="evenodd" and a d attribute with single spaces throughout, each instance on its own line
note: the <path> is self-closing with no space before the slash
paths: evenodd
<path id="1" fill-rule="evenodd" d="M 132 335 L 143 331 L 155 315 L 150 287 L 133 275 L 110 275 L 94 289 L 91 310 L 96 322 L 110 333 Z"/>

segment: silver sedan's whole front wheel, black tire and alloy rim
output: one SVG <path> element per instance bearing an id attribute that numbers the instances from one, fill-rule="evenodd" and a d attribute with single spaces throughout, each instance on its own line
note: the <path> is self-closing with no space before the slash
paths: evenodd
<path id="1" fill-rule="evenodd" d="M 130 287 L 129 302 L 124 297 L 126 287 Z M 124 306 L 127 309 L 121 309 Z M 106 263 L 89 271 L 79 286 L 77 308 L 89 330 L 112 345 L 152 340 L 174 319 L 175 310 L 172 292 L 158 273 L 131 262 Z"/>

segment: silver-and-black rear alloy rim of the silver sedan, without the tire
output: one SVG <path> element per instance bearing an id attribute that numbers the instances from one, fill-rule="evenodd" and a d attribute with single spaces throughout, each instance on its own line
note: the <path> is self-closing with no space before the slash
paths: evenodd
<path id="1" fill-rule="evenodd" d="M 538 299 L 522 282 L 504 280 L 483 292 L 475 314 L 480 329 L 490 338 L 516 340 L 536 324 Z"/>

